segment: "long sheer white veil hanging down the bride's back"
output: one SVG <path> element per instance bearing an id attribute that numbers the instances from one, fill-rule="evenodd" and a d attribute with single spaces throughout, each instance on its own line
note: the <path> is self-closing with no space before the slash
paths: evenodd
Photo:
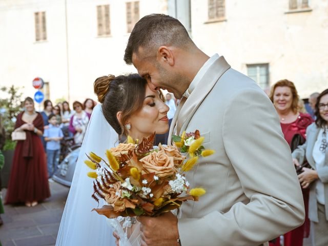
<path id="1" fill-rule="evenodd" d="M 91 212 L 98 206 L 91 198 L 93 193 L 93 179 L 87 176 L 92 171 L 85 164 L 85 153 L 94 152 L 105 158 L 107 149 L 118 144 L 118 134 L 106 121 L 101 105 L 98 104 L 92 112 L 87 132 L 78 156 L 74 177 L 65 205 L 63 217 L 56 240 L 56 246 L 90 246 L 116 245 L 112 230 L 105 216 Z M 99 207 L 104 200 L 99 200 Z"/>

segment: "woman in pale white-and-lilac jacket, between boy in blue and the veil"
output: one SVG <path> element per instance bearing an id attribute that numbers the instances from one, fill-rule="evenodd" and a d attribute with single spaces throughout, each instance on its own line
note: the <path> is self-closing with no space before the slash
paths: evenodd
<path id="1" fill-rule="evenodd" d="M 83 110 L 83 105 L 79 101 L 74 101 L 73 109 L 75 113 L 71 117 L 69 130 L 74 134 L 75 144 L 82 144 L 89 122 L 89 116 Z"/>

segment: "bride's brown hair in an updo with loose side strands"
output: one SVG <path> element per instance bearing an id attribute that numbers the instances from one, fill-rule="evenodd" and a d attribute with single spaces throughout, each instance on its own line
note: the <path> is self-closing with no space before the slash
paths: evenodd
<path id="1" fill-rule="evenodd" d="M 94 93 L 101 103 L 103 114 L 117 134 L 128 135 L 127 119 L 144 105 L 147 81 L 138 74 L 102 76 L 94 81 Z M 116 114 L 121 111 L 118 121 Z"/>

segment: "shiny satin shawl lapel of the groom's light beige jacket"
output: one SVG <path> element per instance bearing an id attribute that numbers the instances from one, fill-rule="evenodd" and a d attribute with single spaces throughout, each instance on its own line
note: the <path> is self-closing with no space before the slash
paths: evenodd
<path id="1" fill-rule="evenodd" d="M 186 103 L 182 105 L 177 115 L 177 134 L 185 130 L 190 119 L 202 103 L 204 98 L 210 93 L 216 82 L 230 68 L 226 59 L 220 56 L 209 68 L 209 70 L 200 79 L 194 91 L 187 98 Z M 196 130 L 196 129 L 195 129 Z"/>

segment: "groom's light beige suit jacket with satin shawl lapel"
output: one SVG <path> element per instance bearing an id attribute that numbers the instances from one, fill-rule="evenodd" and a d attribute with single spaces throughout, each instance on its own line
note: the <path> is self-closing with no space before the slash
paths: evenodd
<path id="1" fill-rule="evenodd" d="M 274 106 L 223 56 L 181 100 L 170 133 L 196 129 L 215 154 L 186 174 L 191 188 L 207 193 L 182 204 L 182 245 L 268 245 L 303 223 L 302 192 Z"/>

